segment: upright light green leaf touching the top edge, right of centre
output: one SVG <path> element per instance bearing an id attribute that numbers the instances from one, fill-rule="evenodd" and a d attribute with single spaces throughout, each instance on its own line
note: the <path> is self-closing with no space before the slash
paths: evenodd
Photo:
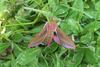
<path id="1" fill-rule="evenodd" d="M 69 13 L 69 17 L 74 18 L 75 20 L 80 20 L 83 16 L 83 0 L 74 0 L 71 12 Z M 77 11 L 75 11 L 77 10 Z"/>

